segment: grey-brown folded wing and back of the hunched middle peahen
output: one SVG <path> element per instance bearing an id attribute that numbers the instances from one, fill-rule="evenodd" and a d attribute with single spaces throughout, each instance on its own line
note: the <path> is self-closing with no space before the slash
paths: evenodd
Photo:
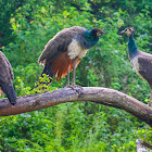
<path id="1" fill-rule="evenodd" d="M 80 33 L 84 33 L 86 29 L 80 26 L 74 26 L 71 28 L 65 28 L 59 31 L 50 41 L 46 45 L 42 53 L 38 59 L 38 63 L 45 64 L 48 60 L 51 61 L 59 56 L 61 52 L 67 50 L 68 45 L 72 39 Z"/>

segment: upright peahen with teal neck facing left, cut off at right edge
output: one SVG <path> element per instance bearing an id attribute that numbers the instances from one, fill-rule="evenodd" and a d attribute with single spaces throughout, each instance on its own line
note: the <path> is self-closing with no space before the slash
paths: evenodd
<path id="1" fill-rule="evenodd" d="M 128 54 L 131 61 L 132 66 L 137 71 L 138 75 L 148 81 L 151 87 L 151 96 L 149 100 L 149 106 L 151 105 L 152 100 L 152 54 L 139 51 L 135 40 L 134 40 L 134 31 L 135 29 L 125 28 L 123 33 L 125 33 L 129 37 L 128 41 Z"/>

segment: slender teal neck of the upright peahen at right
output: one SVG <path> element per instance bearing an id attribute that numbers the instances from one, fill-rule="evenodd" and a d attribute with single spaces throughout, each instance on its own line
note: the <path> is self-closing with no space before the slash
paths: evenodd
<path id="1" fill-rule="evenodd" d="M 130 59 L 134 59 L 136 56 L 136 54 L 138 53 L 138 49 L 137 46 L 135 43 L 134 40 L 134 33 L 131 34 L 131 36 L 129 36 L 129 41 L 128 41 L 128 53 Z"/>

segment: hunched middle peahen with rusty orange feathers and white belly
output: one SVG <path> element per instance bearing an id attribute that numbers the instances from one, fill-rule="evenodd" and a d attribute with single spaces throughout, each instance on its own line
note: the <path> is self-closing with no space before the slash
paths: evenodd
<path id="1" fill-rule="evenodd" d="M 93 47 L 103 31 L 99 28 L 87 30 L 80 26 L 65 28 L 59 31 L 46 45 L 45 50 L 38 59 L 38 63 L 43 64 L 41 73 L 60 81 L 61 77 L 67 75 L 67 86 L 69 86 L 69 72 L 73 71 L 73 84 L 75 87 L 75 69 L 80 60 L 86 55 L 88 49 Z M 49 85 L 52 81 L 47 84 Z"/>

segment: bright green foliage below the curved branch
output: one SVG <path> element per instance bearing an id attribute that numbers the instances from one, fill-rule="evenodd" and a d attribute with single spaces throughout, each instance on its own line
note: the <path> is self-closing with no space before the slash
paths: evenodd
<path id="1" fill-rule="evenodd" d="M 0 143 L 16 151 L 135 151 L 135 140 L 150 141 L 152 130 L 121 110 L 89 103 L 2 117 Z M 109 115 L 106 114 L 109 113 Z M 136 121 L 136 122 L 135 122 Z M 129 132 L 129 134 L 128 134 Z M 4 137 L 4 138 L 2 138 Z M 149 138 L 148 138 L 149 137 Z M 118 148 L 118 149 L 117 149 Z"/>

